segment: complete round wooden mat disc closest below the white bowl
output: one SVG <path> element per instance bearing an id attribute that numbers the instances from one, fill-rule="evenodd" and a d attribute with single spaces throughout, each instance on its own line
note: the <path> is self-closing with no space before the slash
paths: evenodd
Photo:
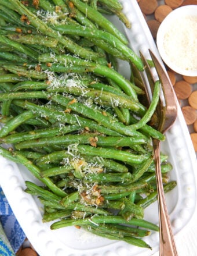
<path id="1" fill-rule="evenodd" d="M 181 80 L 174 84 L 174 91 L 178 99 L 187 99 L 192 92 L 192 87 L 186 81 Z"/>

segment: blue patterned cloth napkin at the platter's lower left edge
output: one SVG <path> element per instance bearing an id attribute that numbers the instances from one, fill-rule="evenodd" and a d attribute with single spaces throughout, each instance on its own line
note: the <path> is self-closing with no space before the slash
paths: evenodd
<path id="1" fill-rule="evenodd" d="M 0 255 L 15 255 L 25 237 L 0 187 Z"/>

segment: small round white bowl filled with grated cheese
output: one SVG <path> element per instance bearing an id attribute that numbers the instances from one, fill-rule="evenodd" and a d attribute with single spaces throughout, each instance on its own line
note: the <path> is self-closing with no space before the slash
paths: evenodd
<path id="1" fill-rule="evenodd" d="M 197 30 L 191 22 L 197 26 L 197 5 L 177 8 L 160 24 L 156 37 L 163 61 L 174 72 L 185 76 L 197 76 Z M 191 65 L 194 64 L 191 60 L 195 65 Z"/>

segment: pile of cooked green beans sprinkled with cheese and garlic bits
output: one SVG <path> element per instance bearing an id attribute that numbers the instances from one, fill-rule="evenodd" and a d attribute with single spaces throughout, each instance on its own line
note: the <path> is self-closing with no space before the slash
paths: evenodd
<path id="1" fill-rule="evenodd" d="M 151 248 L 141 238 L 159 229 L 144 208 L 157 200 L 151 140 L 165 140 L 149 125 L 160 82 L 145 106 L 143 63 L 103 14 L 131 26 L 118 0 L 1 0 L 0 154 L 45 185 L 25 191 L 51 229 Z M 176 182 L 167 155 L 161 162 L 167 192 Z"/>

